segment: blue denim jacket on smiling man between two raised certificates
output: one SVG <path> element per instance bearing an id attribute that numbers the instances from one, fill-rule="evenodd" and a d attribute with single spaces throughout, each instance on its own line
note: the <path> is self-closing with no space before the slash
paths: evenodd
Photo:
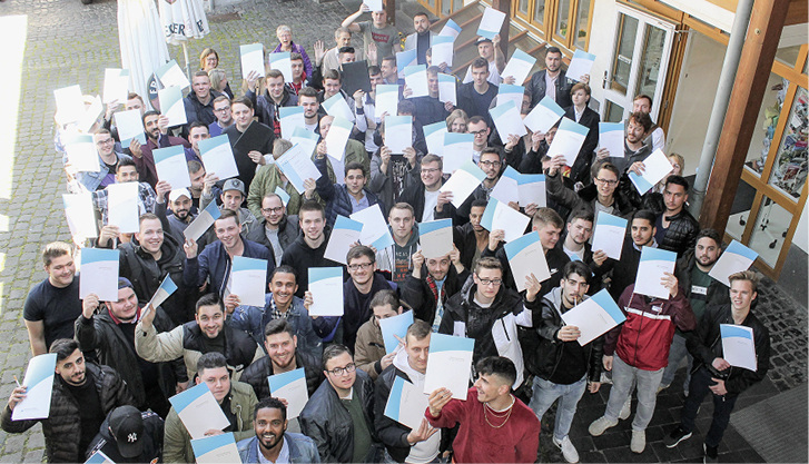
<path id="1" fill-rule="evenodd" d="M 257 306 L 237 306 L 230 317 L 230 326 L 247 332 L 258 343 L 265 353 L 267 348 L 264 346 L 264 327 L 273 320 L 270 317 L 273 294 L 265 295 L 264 308 Z M 293 326 L 295 335 L 298 337 L 297 349 L 309 353 L 315 358 L 323 357 L 323 340 L 312 327 L 312 318 L 304 307 L 304 300 L 297 296 L 293 297 L 293 304 L 289 306 L 287 320 Z"/>

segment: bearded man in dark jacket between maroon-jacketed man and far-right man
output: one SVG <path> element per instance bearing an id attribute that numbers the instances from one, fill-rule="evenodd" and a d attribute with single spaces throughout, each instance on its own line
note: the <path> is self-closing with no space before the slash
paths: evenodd
<path id="1" fill-rule="evenodd" d="M 730 288 L 708 276 L 721 254 L 722 236 L 713 229 L 702 229 L 697 236 L 697 244 L 693 249 L 685 251 L 682 258 L 677 260 L 674 275 L 680 280 L 683 295 L 691 303 L 691 310 L 693 310 L 697 318 L 698 329 L 707 307 L 730 303 Z M 685 358 L 687 368 L 683 391 L 688 393 L 693 356 L 688 353 L 685 338 L 685 334 L 680 329 L 674 332 L 674 339 L 671 342 L 671 351 L 669 352 L 669 365 L 663 371 L 660 389 L 668 388 L 671 385 L 677 369 Z"/>

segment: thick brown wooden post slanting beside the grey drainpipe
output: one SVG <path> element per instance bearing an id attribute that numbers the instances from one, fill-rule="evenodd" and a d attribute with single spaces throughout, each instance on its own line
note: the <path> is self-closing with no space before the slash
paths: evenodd
<path id="1" fill-rule="evenodd" d="M 700 224 L 724 230 L 767 91 L 789 0 L 756 0 L 717 147 Z"/>

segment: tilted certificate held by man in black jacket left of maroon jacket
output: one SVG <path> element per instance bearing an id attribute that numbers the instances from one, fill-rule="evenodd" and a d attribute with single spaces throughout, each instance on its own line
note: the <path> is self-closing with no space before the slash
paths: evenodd
<path id="1" fill-rule="evenodd" d="M 579 327 L 581 336 L 576 342 L 581 346 L 589 344 L 601 334 L 627 320 L 621 309 L 604 288 L 591 298 L 579 303 L 573 309 L 562 315 L 565 325 Z"/>

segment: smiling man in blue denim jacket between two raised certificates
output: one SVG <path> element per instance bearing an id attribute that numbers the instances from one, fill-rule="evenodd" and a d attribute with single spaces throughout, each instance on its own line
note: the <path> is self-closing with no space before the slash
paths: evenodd
<path id="1" fill-rule="evenodd" d="M 266 295 L 264 308 L 238 306 L 230 318 L 230 325 L 248 333 L 267 352 L 265 328 L 273 320 L 286 320 L 296 337 L 297 349 L 319 359 L 323 354 L 320 337 L 312 328 L 312 319 L 304 307 L 304 300 L 295 296 L 297 289 L 295 269 L 285 265 L 276 267 L 269 276 L 269 293 Z"/>

